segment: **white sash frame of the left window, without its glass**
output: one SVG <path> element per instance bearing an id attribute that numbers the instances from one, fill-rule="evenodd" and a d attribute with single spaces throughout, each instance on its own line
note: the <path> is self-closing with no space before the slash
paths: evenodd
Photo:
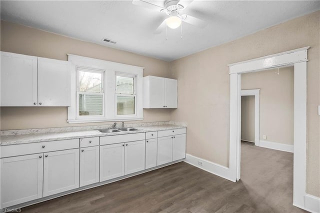
<path id="1" fill-rule="evenodd" d="M 87 72 L 101 73 L 101 91 L 100 92 L 87 92 L 79 90 L 79 70 Z M 104 118 L 104 72 L 105 70 L 91 69 L 82 66 L 76 66 L 76 119 L 103 119 Z M 102 94 L 102 115 L 79 115 L 79 94 L 91 94 L 91 95 L 101 95 Z"/>

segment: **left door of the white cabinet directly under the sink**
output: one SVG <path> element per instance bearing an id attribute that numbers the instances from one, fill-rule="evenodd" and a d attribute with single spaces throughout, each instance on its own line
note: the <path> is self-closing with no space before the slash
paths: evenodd
<path id="1" fill-rule="evenodd" d="M 124 143 L 100 146 L 100 182 L 124 175 Z"/>

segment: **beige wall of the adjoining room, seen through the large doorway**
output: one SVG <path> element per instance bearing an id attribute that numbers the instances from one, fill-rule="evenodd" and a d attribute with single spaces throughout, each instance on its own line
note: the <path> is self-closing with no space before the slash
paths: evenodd
<path id="1" fill-rule="evenodd" d="M 270 69 L 241 75 L 241 89 L 260 89 L 261 140 L 264 134 L 267 141 L 293 144 L 293 70 L 291 66 L 279 68 L 279 74 Z"/>

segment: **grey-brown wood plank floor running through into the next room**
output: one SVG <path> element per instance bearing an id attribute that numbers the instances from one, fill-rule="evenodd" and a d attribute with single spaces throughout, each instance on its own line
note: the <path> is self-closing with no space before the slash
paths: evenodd
<path id="1" fill-rule="evenodd" d="M 242 143 L 241 156 L 236 183 L 180 162 L 22 212 L 305 212 L 292 206 L 292 153 Z"/>

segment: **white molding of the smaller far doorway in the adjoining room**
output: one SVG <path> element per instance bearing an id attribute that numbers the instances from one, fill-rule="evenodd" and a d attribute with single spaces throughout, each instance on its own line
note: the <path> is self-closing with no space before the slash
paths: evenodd
<path id="1" fill-rule="evenodd" d="M 241 96 L 254 96 L 254 145 L 259 146 L 260 142 L 260 89 L 242 89 Z M 240 105 L 241 107 L 241 105 Z M 240 110 L 241 111 L 241 110 Z M 241 138 L 240 138 L 241 139 Z"/>

